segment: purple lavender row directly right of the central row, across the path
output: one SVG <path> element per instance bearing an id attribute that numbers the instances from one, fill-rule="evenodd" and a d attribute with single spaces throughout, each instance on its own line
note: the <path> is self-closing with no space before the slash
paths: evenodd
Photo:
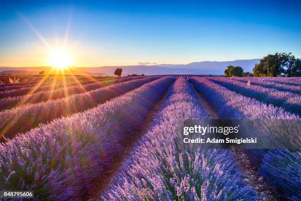
<path id="1" fill-rule="evenodd" d="M 190 82 L 202 96 L 217 110 L 222 119 L 295 119 L 298 115 L 286 112 L 258 100 L 244 97 L 207 78 L 192 78 Z M 264 125 L 263 125 L 264 126 Z M 300 144 L 300 136 L 288 133 L 287 140 Z M 259 167 L 259 173 L 275 186 L 285 200 L 301 200 L 300 150 L 252 150 L 250 157 Z"/>

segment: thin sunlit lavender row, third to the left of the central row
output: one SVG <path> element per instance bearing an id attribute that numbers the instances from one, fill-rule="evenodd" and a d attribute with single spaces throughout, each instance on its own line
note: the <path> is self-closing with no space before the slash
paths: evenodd
<path id="1" fill-rule="evenodd" d="M 89 92 L 98 88 L 102 88 L 105 86 L 109 86 L 112 84 L 125 82 L 133 79 L 141 79 L 143 77 L 125 77 L 122 79 L 111 79 L 106 81 L 97 81 L 92 82 L 90 84 L 81 84 L 76 86 L 70 86 L 70 87 L 61 87 L 54 90 L 48 90 L 48 91 L 40 91 L 29 94 L 29 95 L 21 95 L 16 97 L 7 97 L 4 99 L 0 99 L 0 110 L 4 109 L 10 109 L 12 107 L 15 107 L 17 105 L 23 105 L 26 103 L 37 103 L 41 101 L 47 101 L 47 100 L 55 100 L 64 98 L 73 94 L 81 94 L 85 92 Z"/>

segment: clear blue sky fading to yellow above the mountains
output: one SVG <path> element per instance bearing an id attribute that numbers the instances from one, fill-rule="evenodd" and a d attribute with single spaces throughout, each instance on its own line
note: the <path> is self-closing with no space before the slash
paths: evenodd
<path id="1" fill-rule="evenodd" d="M 301 58 L 300 0 L 0 0 L 0 66 L 78 67 Z"/>

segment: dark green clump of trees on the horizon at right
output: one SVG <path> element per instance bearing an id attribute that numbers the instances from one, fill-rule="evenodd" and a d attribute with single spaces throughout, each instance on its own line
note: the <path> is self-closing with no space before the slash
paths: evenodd
<path id="1" fill-rule="evenodd" d="M 232 65 L 225 69 L 227 77 L 300 77 L 301 76 L 301 60 L 296 59 L 292 53 L 275 53 L 269 54 L 260 60 L 251 72 L 243 72 L 242 67 L 234 67 Z"/>

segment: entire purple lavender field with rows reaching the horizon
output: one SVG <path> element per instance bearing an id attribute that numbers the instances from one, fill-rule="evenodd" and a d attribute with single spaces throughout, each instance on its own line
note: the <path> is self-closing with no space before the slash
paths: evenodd
<path id="1" fill-rule="evenodd" d="M 300 149 L 203 149 L 184 146 L 180 131 L 187 119 L 300 121 L 301 78 L 8 77 L 0 191 L 63 201 L 301 200 Z"/>

